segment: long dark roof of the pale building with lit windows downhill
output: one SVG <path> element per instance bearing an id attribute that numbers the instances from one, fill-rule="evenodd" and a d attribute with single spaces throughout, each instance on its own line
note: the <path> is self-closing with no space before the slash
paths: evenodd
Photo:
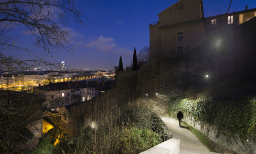
<path id="1" fill-rule="evenodd" d="M 37 89 L 45 91 L 56 91 L 56 90 L 67 90 L 67 89 L 81 89 L 81 88 L 96 88 L 98 90 L 107 90 L 109 81 L 99 82 L 99 81 L 76 81 L 76 82 L 61 82 L 49 85 L 43 85 L 37 87 Z"/>

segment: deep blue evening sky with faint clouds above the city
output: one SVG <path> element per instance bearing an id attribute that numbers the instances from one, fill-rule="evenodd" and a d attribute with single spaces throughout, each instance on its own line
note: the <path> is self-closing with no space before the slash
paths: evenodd
<path id="1" fill-rule="evenodd" d="M 67 63 L 69 68 L 113 69 L 119 64 L 122 56 L 124 67 L 132 61 L 134 46 L 137 52 L 143 46 L 149 46 L 149 24 L 158 21 L 161 11 L 177 0 L 91 0 L 77 1 L 77 8 L 82 12 L 83 25 L 70 22 L 64 25 L 70 33 L 71 54 L 60 51 L 53 54 L 51 62 Z M 230 0 L 203 0 L 205 17 L 227 12 Z M 230 12 L 256 8 L 255 0 L 233 0 Z M 17 26 L 13 34 L 20 36 L 16 44 L 31 48 L 35 53 L 39 49 L 33 47 L 34 39 L 25 34 L 26 29 Z M 10 51 L 10 54 L 14 54 Z M 31 59 L 31 53 L 15 52 L 17 58 Z M 43 56 L 44 57 L 44 56 Z"/>

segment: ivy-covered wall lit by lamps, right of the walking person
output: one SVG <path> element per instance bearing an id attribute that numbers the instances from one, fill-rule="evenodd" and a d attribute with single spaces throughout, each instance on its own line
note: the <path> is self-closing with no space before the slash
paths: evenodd
<path id="1" fill-rule="evenodd" d="M 252 153 L 256 150 L 256 97 L 253 82 L 240 84 L 222 82 L 198 93 L 172 97 L 168 112 L 176 118 L 181 109 L 185 121 L 199 125 L 205 135 L 214 130 L 214 135 L 209 137 L 221 146 L 229 145 L 226 148 L 239 153 Z M 229 89 L 224 89 L 224 85 L 229 85 Z"/>

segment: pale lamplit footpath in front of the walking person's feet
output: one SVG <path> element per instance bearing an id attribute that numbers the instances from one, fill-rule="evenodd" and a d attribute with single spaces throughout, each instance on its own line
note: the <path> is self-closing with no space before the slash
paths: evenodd
<path id="1" fill-rule="evenodd" d="M 161 117 L 174 138 L 180 139 L 180 154 L 206 154 L 210 152 L 188 129 L 178 126 L 178 120 Z"/>

